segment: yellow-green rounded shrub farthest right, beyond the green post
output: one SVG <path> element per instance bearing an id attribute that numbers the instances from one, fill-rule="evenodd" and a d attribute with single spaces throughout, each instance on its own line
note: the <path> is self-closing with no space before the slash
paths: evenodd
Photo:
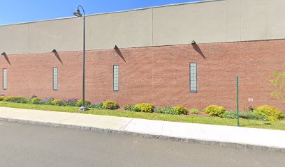
<path id="1" fill-rule="evenodd" d="M 270 121 L 279 120 L 283 115 L 279 109 L 269 105 L 258 106 L 256 109 L 254 109 L 253 113 L 264 116 L 266 120 Z"/>

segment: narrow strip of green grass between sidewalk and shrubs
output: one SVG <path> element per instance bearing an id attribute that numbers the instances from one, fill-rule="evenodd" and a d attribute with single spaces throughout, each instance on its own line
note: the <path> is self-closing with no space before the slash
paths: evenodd
<path id="1" fill-rule="evenodd" d="M 119 110 L 105 110 L 105 109 L 90 109 L 89 111 L 80 112 L 79 107 L 74 106 L 47 106 L 39 104 L 21 104 L 12 102 L 0 102 L 0 106 L 18 108 L 18 109 L 37 109 L 45 111 L 60 111 L 70 113 L 87 113 L 94 115 L 104 116 L 117 116 L 117 117 L 129 117 L 129 118 L 142 118 L 147 120 L 166 120 L 173 122 L 191 122 L 201 124 L 212 124 L 212 125 L 229 125 L 236 126 L 237 120 L 217 118 L 217 117 L 203 117 L 203 116 L 174 116 L 161 113 L 139 113 L 133 111 L 119 111 Z M 283 121 L 259 121 L 259 120 L 240 120 L 240 126 L 242 127 L 256 127 L 264 129 L 281 129 L 285 130 L 285 122 Z"/>

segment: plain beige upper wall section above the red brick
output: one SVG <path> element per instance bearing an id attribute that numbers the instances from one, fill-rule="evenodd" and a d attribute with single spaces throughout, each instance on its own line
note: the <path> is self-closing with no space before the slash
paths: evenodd
<path id="1" fill-rule="evenodd" d="M 224 0 L 86 17 L 86 49 L 285 38 L 284 0 Z M 82 18 L 0 26 L 0 51 L 82 50 Z"/>

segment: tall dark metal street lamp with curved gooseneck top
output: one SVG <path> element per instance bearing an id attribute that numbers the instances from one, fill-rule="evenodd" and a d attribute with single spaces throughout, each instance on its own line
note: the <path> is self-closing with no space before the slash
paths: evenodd
<path id="1" fill-rule="evenodd" d="M 82 8 L 82 6 L 78 6 L 77 10 L 73 15 L 77 17 L 82 17 L 82 14 L 80 13 L 79 7 Z M 83 11 L 83 75 L 82 75 L 82 106 L 80 107 L 80 111 L 87 111 L 88 108 L 85 106 L 85 10 L 82 8 Z"/>

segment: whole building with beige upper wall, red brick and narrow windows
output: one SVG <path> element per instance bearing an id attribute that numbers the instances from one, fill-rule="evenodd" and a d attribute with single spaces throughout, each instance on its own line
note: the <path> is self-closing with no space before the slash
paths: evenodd
<path id="1" fill-rule="evenodd" d="M 241 109 L 270 104 L 285 111 L 284 101 L 270 96 L 275 87 L 269 82 L 285 66 L 285 21 L 272 22 L 282 17 L 284 1 L 239 2 L 87 16 L 86 100 L 235 109 L 239 75 Z M 6 53 L 0 57 L 1 93 L 80 99 L 81 22 L 71 17 L 0 26 Z"/>

